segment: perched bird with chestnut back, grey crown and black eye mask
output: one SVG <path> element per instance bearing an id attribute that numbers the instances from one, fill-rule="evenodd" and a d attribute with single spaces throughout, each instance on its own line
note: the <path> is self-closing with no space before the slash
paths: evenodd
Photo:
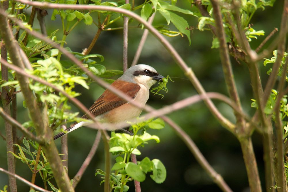
<path id="1" fill-rule="evenodd" d="M 110 86 L 116 88 L 134 101 L 146 104 L 149 98 L 149 89 L 156 82 L 162 82 L 164 77 L 160 75 L 153 67 L 145 64 L 138 64 L 127 69 L 121 77 L 116 79 Z M 90 113 L 95 116 L 95 120 L 101 123 L 119 123 L 139 117 L 142 109 L 139 109 L 126 100 L 120 98 L 113 92 L 106 89 L 103 94 L 92 104 L 89 109 Z M 84 119 L 88 116 L 83 115 Z M 75 129 L 91 124 L 88 121 L 74 123 L 67 128 L 65 132 L 61 132 L 54 136 L 54 140 L 62 137 Z"/>

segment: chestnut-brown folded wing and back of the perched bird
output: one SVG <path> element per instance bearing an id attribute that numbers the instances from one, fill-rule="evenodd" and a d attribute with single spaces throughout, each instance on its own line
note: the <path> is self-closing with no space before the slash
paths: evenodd
<path id="1" fill-rule="evenodd" d="M 112 87 L 126 93 L 128 96 L 133 97 L 140 90 L 140 86 L 136 83 L 129 83 L 126 81 L 116 80 L 111 84 Z M 94 102 L 90 107 L 89 111 L 94 115 L 101 115 L 115 107 L 119 107 L 127 103 L 126 100 L 123 100 L 119 96 L 115 95 L 109 90 L 105 90 L 103 94 Z M 83 118 L 87 118 L 86 115 Z"/>

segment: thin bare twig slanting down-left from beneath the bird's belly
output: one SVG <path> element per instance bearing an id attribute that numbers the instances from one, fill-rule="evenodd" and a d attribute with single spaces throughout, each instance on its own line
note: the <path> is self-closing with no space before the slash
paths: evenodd
<path id="1" fill-rule="evenodd" d="M 77 186 L 77 184 L 79 183 L 79 181 L 81 180 L 85 170 L 87 169 L 87 167 L 90 164 L 92 158 L 94 157 L 94 155 L 95 155 L 95 153 L 97 151 L 97 148 L 98 148 L 100 140 L 101 140 L 101 131 L 98 131 L 97 134 L 96 134 L 94 143 L 93 143 L 93 145 L 92 145 L 92 147 L 91 147 L 91 149 L 90 149 L 85 161 L 83 162 L 81 168 L 79 169 L 79 171 L 77 172 L 77 174 L 73 178 L 72 187 L 74 189 Z"/>

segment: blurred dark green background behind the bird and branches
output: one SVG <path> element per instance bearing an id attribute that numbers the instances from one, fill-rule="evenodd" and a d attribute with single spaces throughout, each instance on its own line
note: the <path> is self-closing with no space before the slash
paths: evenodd
<path id="1" fill-rule="evenodd" d="M 137 4 L 140 4 L 141 2 L 142 1 L 136 1 Z M 177 5 L 192 11 L 195 10 L 188 1 L 179 1 Z M 251 20 L 253 28 L 256 31 L 264 30 L 265 36 L 267 36 L 274 27 L 279 28 L 282 7 L 283 1 L 279 0 L 275 2 L 274 7 L 266 7 L 264 11 L 260 9 L 257 10 L 255 16 Z M 31 9 L 26 10 L 26 12 L 30 13 Z M 139 12 L 140 10 L 137 11 L 138 14 Z M 57 16 L 56 21 L 51 21 L 51 15 L 52 10 L 48 10 L 48 16 L 45 18 L 48 34 L 57 28 L 61 28 L 59 17 Z M 198 24 L 198 19 L 196 17 L 182 14 L 179 15 L 183 16 L 190 26 L 196 28 Z M 92 17 L 97 21 L 95 13 L 92 14 Z M 163 25 L 165 24 L 165 20 L 157 13 L 153 24 Z M 114 24 L 114 26 L 121 25 L 121 19 Z M 137 26 L 137 23 L 131 22 L 129 25 Z M 175 30 L 172 24 L 170 24 L 170 27 L 172 30 Z M 36 19 L 34 28 L 39 29 L 38 21 Z M 81 22 L 74 31 L 67 36 L 67 45 L 65 46 L 70 47 L 73 51 L 82 52 L 83 48 L 89 46 L 96 31 L 97 27 L 94 24 L 86 26 Z M 133 60 L 142 33 L 143 30 L 141 30 L 141 28 L 130 28 L 128 30 L 128 65 L 130 65 Z M 57 37 L 58 40 L 62 38 L 60 30 L 57 32 Z M 197 29 L 191 31 L 192 43 L 190 46 L 186 37 L 177 36 L 166 38 L 175 47 L 187 65 L 192 67 L 194 73 L 207 92 L 220 92 L 227 95 L 219 58 L 219 50 L 211 49 L 212 35 L 210 31 L 200 32 Z M 251 47 L 255 49 L 264 38 L 265 37 L 259 37 L 257 40 L 253 39 Z M 96 61 L 99 62 L 99 64 L 103 64 L 107 69 L 121 70 L 122 39 L 122 30 L 103 31 L 91 53 L 101 54 L 104 56 L 105 60 L 100 62 L 100 60 L 96 59 Z M 62 59 L 65 59 L 65 57 L 62 57 Z M 174 62 L 161 43 L 151 34 L 149 34 L 146 40 L 139 64 L 151 65 L 161 75 L 169 75 L 173 81 L 175 81 L 173 83 L 168 83 L 167 87 L 169 92 L 164 95 L 163 99 L 161 99 L 160 96 L 151 94 L 147 102 L 149 105 L 155 108 L 161 108 L 196 94 L 194 87 L 190 81 L 187 80 L 179 66 Z M 245 112 L 252 115 L 255 109 L 250 107 L 250 99 L 253 98 L 253 95 L 247 66 L 244 63 L 239 64 L 233 58 L 232 65 L 241 103 Z M 259 67 L 262 82 L 263 85 L 265 85 L 268 77 L 266 71 L 269 68 L 263 66 L 263 61 L 259 62 Z M 90 107 L 94 100 L 96 100 L 104 90 L 96 83 L 92 83 L 89 90 L 78 86 L 76 91 L 82 93 L 78 99 L 82 101 L 86 107 Z M 22 107 L 22 95 L 17 94 L 17 96 L 18 121 L 24 122 L 29 119 L 28 113 L 26 109 Z M 215 101 L 215 104 L 223 115 L 231 121 L 235 121 L 232 110 L 228 105 L 217 101 Z M 72 110 L 78 111 L 74 106 L 72 107 Z M 239 142 L 235 136 L 220 126 L 203 102 L 173 112 L 168 116 L 189 134 L 209 163 L 223 176 L 224 180 L 233 191 L 249 191 L 246 169 L 242 159 Z M 3 119 L 0 119 L 0 132 L 2 134 L 5 133 Z M 150 141 L 145 148 L 140 148 L 142 155 L 138 156 L 137 159 L 141 160 L 146 156 L 150 159 L 160 159 L 166 166 L 167 178 L 164 183 L 156 184 L 147 176 L 146 180 L 141 183 L 143 192 L 221 191 L 209 178 L 206 172 L 204 172 L 185 144 L 169 126 L 166 126 L 160 131 L 151 130 L 149 133 L 158 135 L 160 137 L 160 143 L 156 144 L 156 142 Z M 92 146 L 95 136 L 96 131 L 89 128 L 77 129 L 68 135 L 70 178 L 75 176 L 82 165 Z M 57 140 L 56 144 L 60 149 L 60 140 Z M 262 180 L 263 191 L 266 191 L 267 189 L 265 188 L 264 183 L 262 138 L 257 132 L 253 134 L 253 145 L 257 157 L 259 174 Z M 5 141 L 0 139 L 0 166 L 7 169 L 5 147 Z M 94 176 L 97 168 L 104 170 L 102 141 L 95 157 L 82 177 L 82 180 L 76 187 L 76 191 L 103 191 L 103 185 L 100 186 L 100 176 Z M 31 180 L 32 173 L 19 159 L 16 160 L 16 173 L 27 180 Z M 3 189 L 3 186 L 7 185 L 7 178 L 7 175 L 0 173 L 0 189 Z M 29 187 L 19 181 L 17 181 L 17 183 L 19 192 L 29 191 Z M 43 187 L 43 183 L 39 176 L 36 178 L 36 184 Z M 128 185 L 130 186 L 129 191 L 134 191 L 134 183 L 130 182 Z"/>

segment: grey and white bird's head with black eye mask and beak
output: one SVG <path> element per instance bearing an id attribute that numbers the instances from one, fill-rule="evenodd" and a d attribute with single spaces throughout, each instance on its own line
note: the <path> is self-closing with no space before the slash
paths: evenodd
<path id="1" fill-rule="evenodd" d="M 164 78 L 153 67 L 149 65 L 139 64 L 127 69 L 119 78 L 123 81 L 131 83 L 139 83 L 145 85 L 148 89 L 158 81 Z"/>

